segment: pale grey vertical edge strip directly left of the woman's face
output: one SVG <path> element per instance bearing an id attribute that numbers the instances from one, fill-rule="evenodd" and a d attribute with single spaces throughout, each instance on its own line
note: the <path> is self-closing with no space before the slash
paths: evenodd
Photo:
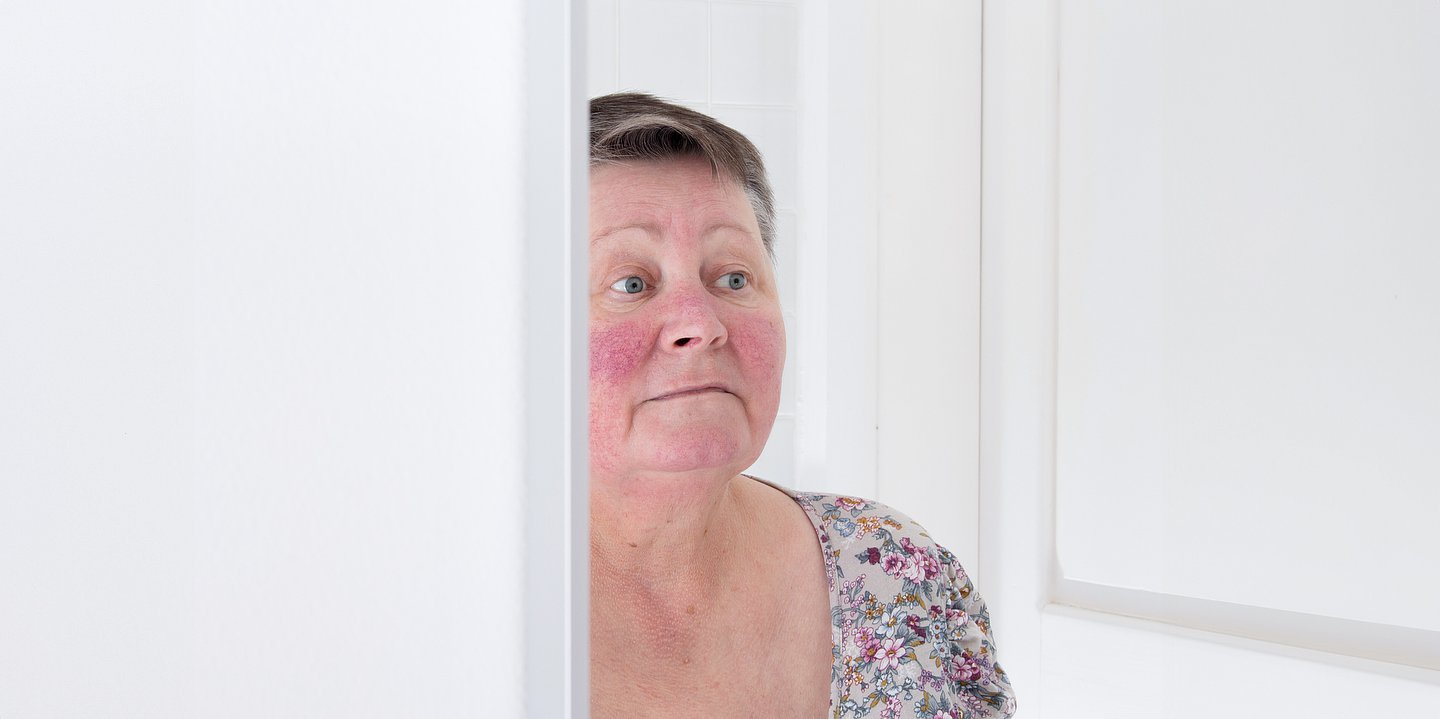
<path id="1" fill-rule="evenodd" d="M 585 58 L 579 0 L 526 3 L 523 612 L 530 718 L 585 718 L 590 705 Z"/>

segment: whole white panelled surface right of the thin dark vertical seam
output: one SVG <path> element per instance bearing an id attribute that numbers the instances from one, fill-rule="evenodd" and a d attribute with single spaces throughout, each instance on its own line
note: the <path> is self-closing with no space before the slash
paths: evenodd
<path id="1" fill-rule="evenodd" d="M 1440 709 L 1437 27 L 986 7 L 982 559 L 1030 716 Z"/>

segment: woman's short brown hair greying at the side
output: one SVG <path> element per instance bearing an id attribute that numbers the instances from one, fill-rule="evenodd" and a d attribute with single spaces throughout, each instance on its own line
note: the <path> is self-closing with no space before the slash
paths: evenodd
<path id="1" fill-rule="evenodd" d="M 717 174 L 744 189 L 760 225 L 760 242 L 775 256 L 775 193 L 760 151 L 724 122 L 644 92 L 590 101 L 590 164 L 703 157 Z"/>

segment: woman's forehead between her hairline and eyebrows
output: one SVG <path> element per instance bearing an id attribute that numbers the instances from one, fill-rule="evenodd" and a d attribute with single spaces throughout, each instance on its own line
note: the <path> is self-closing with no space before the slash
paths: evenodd
<path id="1" fill-rule="evenodd" d="M 590 242 L 636 228 L 655 233 L 733 226 L 759 239 L 739 183 L 698 157 L 603 164 L 590 171 Z"/>

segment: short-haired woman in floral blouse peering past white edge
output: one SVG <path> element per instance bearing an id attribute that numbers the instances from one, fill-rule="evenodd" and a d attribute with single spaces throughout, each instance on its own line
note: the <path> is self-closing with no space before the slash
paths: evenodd
<path id="1" fill-rule="evenodd" d="M 593 715 L 1012 713 L 985 605 L 923 529 L 740 474 L 785 365 L 755 146 L 608 95 L 590 170 Z"/>

